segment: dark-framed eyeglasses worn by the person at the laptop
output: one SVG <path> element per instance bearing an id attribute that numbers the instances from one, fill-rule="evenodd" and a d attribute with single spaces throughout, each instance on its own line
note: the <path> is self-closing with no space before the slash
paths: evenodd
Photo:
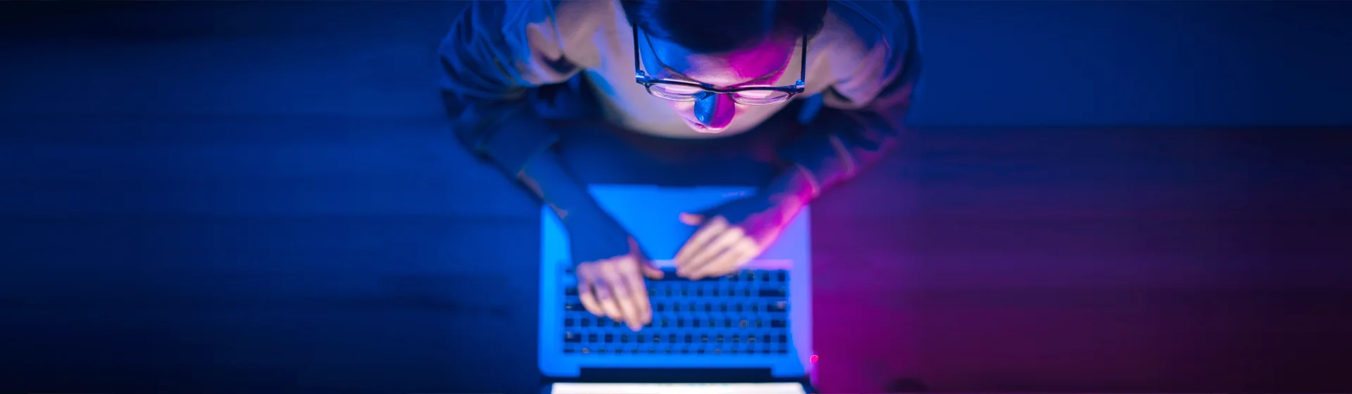
<path id="1" fill-rule="evenodd" d="M 798 59 L 800 65 L 798 70 L 798 82 L 794 82 L 794 85 L 719 89 L 710 84 L 662 80 L 645 73 L 638 53 L 638 27 L 630 26 L 630 28 L 634 31 L 634 80 L 648 89 L 648 94 L 653 94 L 658 98 L 671 101 L 698 101 L 713 94 L 729 94 L 733 97 L 733 101 L 738 104 L 772 105 L 788 101 L 788 98 L 792 98 L 795 94 L 803 93 L 807 86 L 803 82 L 807 80 L 807 36 L 803 36 L 803 53 L 799 54 Z M 648 38 L 648 34 L 644 34 L 644 39 L 648 40 L 648 47 L 653 46 L 653 40 Z"/>

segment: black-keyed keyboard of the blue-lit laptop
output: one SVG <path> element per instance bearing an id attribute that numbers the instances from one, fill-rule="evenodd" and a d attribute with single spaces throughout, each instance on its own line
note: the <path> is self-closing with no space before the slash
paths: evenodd
<path id="1" fill-rule="evenodd" d="M 744 270 L 690 281 L 664 270 L 648 281 L 653 321 L 639 332 L 583 308 L 577 287 L 564 290 L 564 354 L 622 355 L 784 355 L 792 345 L 788 271 Z M 568 277 L 572 277 L 569 270 Z"/>

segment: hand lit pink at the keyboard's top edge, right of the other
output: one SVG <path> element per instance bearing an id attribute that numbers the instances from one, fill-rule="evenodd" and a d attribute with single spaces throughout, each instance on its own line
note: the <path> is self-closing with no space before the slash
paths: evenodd
<path id="1" fill-rule="evenodd" d="M 699 229 L 676 252 L 676 274 L 700 279 L 741 269 L 773 244 L 800 209 L 796 200 L 763 192 L 704 213 L 681 213 L 681 223 Z"/>

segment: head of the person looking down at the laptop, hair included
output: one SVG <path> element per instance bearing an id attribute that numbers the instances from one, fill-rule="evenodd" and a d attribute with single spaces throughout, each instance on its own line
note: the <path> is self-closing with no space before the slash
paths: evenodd
<path id="1" fill-rule="evenodd" d="M 658 78 L 718 88 L 773 85 L 794 61 L 794 49 L 815 35 L 826 1 L 625 0 L 625 15 L 639 30 L 645 70 Z M 745 109 L 727 94 L 671 101 L 700 132 L 719 132 Z"/>

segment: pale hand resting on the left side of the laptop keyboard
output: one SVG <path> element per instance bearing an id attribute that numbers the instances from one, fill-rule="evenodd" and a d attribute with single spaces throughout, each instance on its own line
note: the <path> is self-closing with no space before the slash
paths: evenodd
<path id="1" fill-rule="evenodd" d="M 661 279 L 662 270 L 644 256 L 633 237 L 629 246 L 629 254 L 577 264 L 577 298 L 587 312 L 639 331 L 653 321 L 644 277 Z"/>

